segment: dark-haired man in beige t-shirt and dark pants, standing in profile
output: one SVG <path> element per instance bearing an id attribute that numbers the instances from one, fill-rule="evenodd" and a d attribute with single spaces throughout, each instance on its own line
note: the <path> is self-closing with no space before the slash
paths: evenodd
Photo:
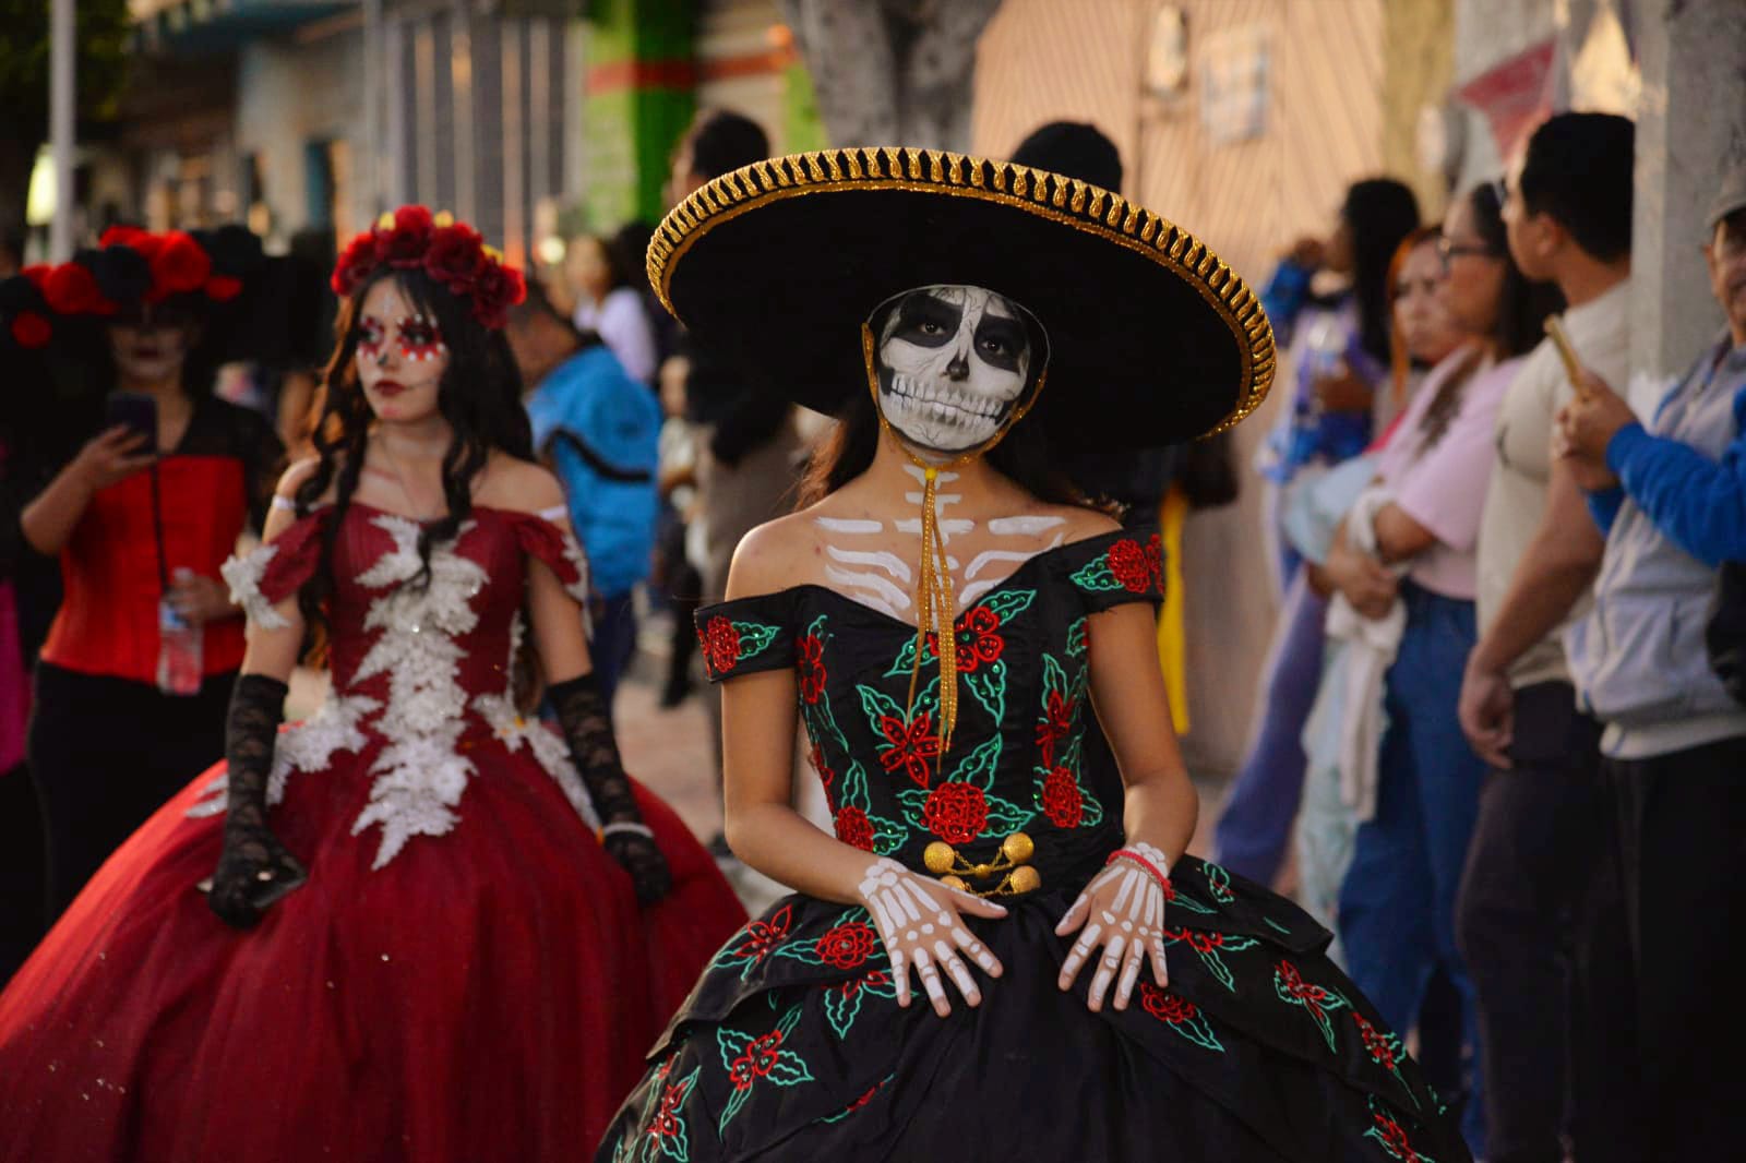
<path id="1" fill-rule="evenodd" d="M 1631 348 L 1633 183 L 1627 119 L 1561 114 L 1533 133 L 1503 190 L 1510 255 L 1529 279 L 1557 283 L 1571 344 L 1617 384 Z M 1577 1016 L 1587 985 L 1568 967 L 1603 796 L 1599 726 L 1577 709 L 1563 630 L 1587 613 L 1605 548 L 1571 466 L 1550 451 L 1571 391 L 1545 341 L 1498 410 L 1479 527 L 1479 643 L 1460 702 L 1461 730 L 1493 768 L 1456 903 L 1479 990 L 1491 1163 L 1556 1163 L 1566 1130 L 1584 1163 L 1613 1158 L 1599 1128 L 1610 1102 L 1591 1084 L 1605 1079 L 1585 1067 L 1594 1023 Z"/>

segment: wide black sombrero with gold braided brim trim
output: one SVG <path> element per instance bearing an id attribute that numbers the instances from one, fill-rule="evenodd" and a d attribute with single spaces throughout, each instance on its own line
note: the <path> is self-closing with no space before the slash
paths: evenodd
<path id="1" fill-rule="evenodd" d="M 667 215 L 648 276 L 700 346 L 828 414 L 868 389 L 863 321 L 939 283 L 1041 320 L 1051 356 L 1034 412 L 1063 449 L 1219 431 L 1273 384 L 1261 302 L 1193 234 L 1095 185 L 943 150 L 735 169 Z"/>

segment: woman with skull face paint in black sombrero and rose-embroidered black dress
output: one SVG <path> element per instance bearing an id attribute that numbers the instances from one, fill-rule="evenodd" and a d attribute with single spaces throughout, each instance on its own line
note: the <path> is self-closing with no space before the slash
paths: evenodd
<path id="1" fill-rule="evenodd" d="M 1252 410 L 1241 281 L 1114 194 L 915 150 L 728 175 L 650 274 L 842 424 L 698 613 L 728 840 L 798 892 L 721 948 L 599 1158 L 1465 1160 L 1329 934 L 1184 856 L 1158 540 L 1051 470 Z M 835 836 L 787 807 L 796 718 Z M 1081 767 L 1100 728 L 1119 786 Z"/>

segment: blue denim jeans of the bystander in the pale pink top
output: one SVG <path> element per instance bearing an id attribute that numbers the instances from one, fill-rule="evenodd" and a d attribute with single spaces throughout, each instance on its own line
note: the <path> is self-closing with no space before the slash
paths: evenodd
<path id="1" fill-rule="evenodd" d="M 1454 985 L 1475 1063 L 1461 1132 L 1481 1156 L 1479 1015 L 1454 941 L 1454 901 L 1486 775 L 1456 719 L 1461 672 L 1474 648 L 1474 602 L 1411 582 L 1400 583 L 1400 599 L 1407 627 L 1388 669 L 1376 815 L 1358 826 L 1353 842 L 1339 891 L 1339 936 L 1351 980 L 1397 1030 L 1418 1020 L 1437 969 Z"/>

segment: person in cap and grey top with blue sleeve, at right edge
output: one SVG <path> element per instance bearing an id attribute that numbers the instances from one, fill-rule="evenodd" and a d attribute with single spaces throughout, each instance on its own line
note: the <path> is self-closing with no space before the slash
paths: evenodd
<path id="1" fill-rule="evenodd" d="M 1722 562 L 1746 561 L 1746 162 L 1708 224 L 1727 334 L 1650 424 L 1585 374 L 1554 440 L 1606 533 L 1594 609 L 1566 646 L 1577 697 L 1605 723 L 1615 835 L 1601 871 L 1619 878 L 1608 912 L 1636 987 L 1612 1006 L 1636 1027 L 1636 1060 L 1605 1065 L 1634 1083 L 1652 1149 L 1633 1158 L 1739 1149 L 1746 1008 L 1732 931 L 1746 917 L 1746 705 L 1711 672 L 1704 625 Z"/>

